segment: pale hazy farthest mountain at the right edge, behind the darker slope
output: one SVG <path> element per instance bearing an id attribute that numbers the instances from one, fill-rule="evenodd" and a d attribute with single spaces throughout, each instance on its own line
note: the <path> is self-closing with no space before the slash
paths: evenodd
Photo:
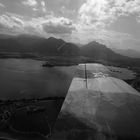
<path id="1" fill-rule="evenodd" d="M 140 58 L 140 51 L 136 51 L 133 49 L 124 50 L 124 49 L 116 49 L 116 48 L 112 48 L 112 50 L 124 56 L 132 57 L 132 58 Z"/>

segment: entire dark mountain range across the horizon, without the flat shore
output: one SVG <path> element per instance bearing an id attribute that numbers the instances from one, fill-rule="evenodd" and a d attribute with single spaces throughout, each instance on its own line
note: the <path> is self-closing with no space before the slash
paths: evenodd
<path id="1" fill-rule="evenodd" d="M 36 53 L 44 56 L 84 56 L 94 60 L 104 60 L 121 64 L 138 64 L 140 59 L 123 56 L 98 42 L 90 42 L 82 47 L 62 39 L 48 39 L 37 36 L 0 35 L 0 53 Z"/>

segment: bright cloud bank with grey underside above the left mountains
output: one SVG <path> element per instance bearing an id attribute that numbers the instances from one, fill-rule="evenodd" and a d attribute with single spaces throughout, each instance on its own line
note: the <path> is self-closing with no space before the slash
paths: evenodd
<path id="1" fill-rule="evenodd" d="M 71 34 L 75 29 L 70 19 L 54 15 L 26 20 L 22 16 L 7 13 L 0 16 L 0 24 L 4 30 L 7 28 L 19 33 L 38 34 L 44 37 L 48 34 Z"/>

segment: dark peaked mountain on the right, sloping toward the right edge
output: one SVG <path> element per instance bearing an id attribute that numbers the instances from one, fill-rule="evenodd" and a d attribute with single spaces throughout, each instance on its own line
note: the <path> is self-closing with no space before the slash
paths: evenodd
<path id="1" fill-rule="evenodd" d="M 81 55 L 92 58 L 94 60 L 103 60 L 119 65 L 139 65 L 140 59 L 134 59 L 127 56 L 123 56 L 100 44 L 96 41 L 90 42 L 87 45 L 81 47 Z"/>

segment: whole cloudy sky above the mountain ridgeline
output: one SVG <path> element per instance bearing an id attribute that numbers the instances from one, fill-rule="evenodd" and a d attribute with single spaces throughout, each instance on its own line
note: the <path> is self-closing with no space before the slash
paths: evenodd
<path id="1" fill-rule="evenodd" d="M 140 51 L 140 0 L 0 0 L 0 34 Z"/>

